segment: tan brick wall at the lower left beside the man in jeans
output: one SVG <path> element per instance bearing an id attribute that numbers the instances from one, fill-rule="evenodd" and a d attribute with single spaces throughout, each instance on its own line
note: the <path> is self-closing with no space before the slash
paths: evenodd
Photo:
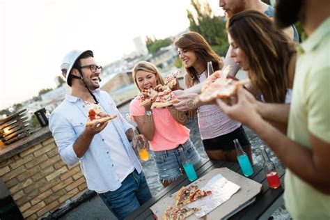
<path id="1" fill-rule="evenodd" d="M 87 189 L 79 163 L 65 165 L 52 137 L 1 161 L 0 178 L 25 219 L 38 219 Z"/>

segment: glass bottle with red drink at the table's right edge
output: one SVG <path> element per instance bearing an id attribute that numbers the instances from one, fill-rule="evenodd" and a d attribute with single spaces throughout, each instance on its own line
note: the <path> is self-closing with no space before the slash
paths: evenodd
<path id="1" fill-rule="evenodd" d="M 260 151 L 262 158 L 264 159 L 263 169 L 265 171 L 269 187 L 276 189 L 277 187 L 281 186 L 281 182 L 278 178 L 274 163 L 269 159 L 269 156 L 265 150 L 265 146 L 260 146 Z"/>

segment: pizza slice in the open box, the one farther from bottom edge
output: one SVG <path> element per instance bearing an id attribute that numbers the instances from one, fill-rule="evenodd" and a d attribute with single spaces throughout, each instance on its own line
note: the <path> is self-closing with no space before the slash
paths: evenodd
<path id="1" fill-rule="evenodd" d="M 212 191 L 198 189 L 197 185 L 182 187 L 175 196 L 175 206 L 183 206 L 212 194 Z"/>

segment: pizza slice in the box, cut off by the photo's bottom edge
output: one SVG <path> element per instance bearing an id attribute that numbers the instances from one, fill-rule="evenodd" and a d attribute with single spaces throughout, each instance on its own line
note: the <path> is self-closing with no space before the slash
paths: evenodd
<path id="1" fill-rule="evenodd" d="M 165 210 L 162 220 L 183 220 L 191 216 L 195 212 L 198 212 L 200 209 L 194 208 L 184 208 L 184 207 L 168 207 Z"/>

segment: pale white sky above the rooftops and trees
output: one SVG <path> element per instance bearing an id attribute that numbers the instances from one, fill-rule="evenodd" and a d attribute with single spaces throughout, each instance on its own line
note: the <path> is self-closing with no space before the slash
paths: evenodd
<path id="1" fill-rule="evenodd" d="M 219 0 L 209 3 L 222 14 Z M 187 8 L 190 0 L 0 0 L 0 109 L 55 88 L 72 49 L 91 49 L 107 65 L 134 51 L 135 37 L 184 31 Z"/>

